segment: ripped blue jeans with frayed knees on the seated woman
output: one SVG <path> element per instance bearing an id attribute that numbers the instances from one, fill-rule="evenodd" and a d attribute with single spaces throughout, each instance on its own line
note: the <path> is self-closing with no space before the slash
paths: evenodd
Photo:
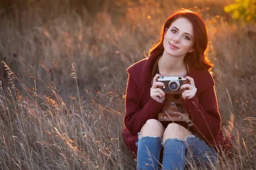
<path id="1" fill-rule="evenodd" d="M 163 142 L 160 136 L 138 135 L 137 170 L 158 170 L 162 147 L 162 170 L 184 170 L 186 161 L 203 169 L 215 167 L 216 151 L 194 134 L 184 140 L 173 138 Z"/>

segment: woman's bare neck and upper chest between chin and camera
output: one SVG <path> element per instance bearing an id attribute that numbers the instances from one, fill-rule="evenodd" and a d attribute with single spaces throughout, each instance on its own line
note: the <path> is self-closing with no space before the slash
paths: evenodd
<path id="1" fill-rule="evenodd" d="M 185 56 L 184 56 L 185 57 Z M 163 76 L 183 76 L 186 75 L 186 64 L 184 57 L 173 57 L 163 52 L 159 59 L 158 68 Z"/>

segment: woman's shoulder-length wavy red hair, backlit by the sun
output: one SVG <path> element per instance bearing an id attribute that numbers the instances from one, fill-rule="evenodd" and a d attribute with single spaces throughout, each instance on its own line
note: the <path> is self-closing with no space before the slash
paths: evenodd
<path id="1" fill-rule="evenodd" d="M 197 13 L 189 11 L 187 9 L 182 9 L 175 12 L 174 14 L 172 14 L 171 17 L 166 20 L 164 26 L 162 27 L 160 42 L 158 42 L 150 49 L 149 54 L 151 55 L 152 53 L 154 53 L 154 51 L 163 53 L 163 39 L 165 30 L 166 28 L 168 29 L 172 25 L 172 22 L 174 22 L 178 18 L 186 18 L 192 23 L 195 37 L 195 42 L 193 45 L 193 48 L 195 50 L 192 53 L 188 52 L 185 55 L 184 60 L 186 62 L 190 62 L 197 69 L 209 70 L 210 68 L 212 68 L 213 65 L 208 61 L 206 55 L 204 54 L 208 45 L 208 37 L 205 23 Z"/>

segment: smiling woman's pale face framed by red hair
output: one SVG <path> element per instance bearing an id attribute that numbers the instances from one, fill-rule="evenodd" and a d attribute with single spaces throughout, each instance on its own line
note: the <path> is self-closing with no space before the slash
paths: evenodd
<path id="1" fill-rule="evenodd" d="M 187 52 L 194 51 L 194 31 L 192 23 L 186 18 L 178 18 L 169 29 L 166 28 L 163 47 L 170 56 L 185 56 Z"/>

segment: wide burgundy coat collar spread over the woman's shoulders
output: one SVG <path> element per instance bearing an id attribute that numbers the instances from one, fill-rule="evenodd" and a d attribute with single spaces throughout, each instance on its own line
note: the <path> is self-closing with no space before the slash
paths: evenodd
<path id="1" fill-rule="evenodd" d="M 162 52 L 155 51 L 148 58 L 142 59 L 131 65 L 127 72 L 132 79 L 136 82 L 137 86 L 145 91 L 148 85 L 151 85 L 151 69 L 152 64 L 156 61 L 157 57 L 162 55 Z M 212 75 L 207 70 L 199 70 L 191 63 L 189 65 L 189 76 L 195 81 L 195 87 L 199 92 L 206 90 L 214 85 Z"/>

